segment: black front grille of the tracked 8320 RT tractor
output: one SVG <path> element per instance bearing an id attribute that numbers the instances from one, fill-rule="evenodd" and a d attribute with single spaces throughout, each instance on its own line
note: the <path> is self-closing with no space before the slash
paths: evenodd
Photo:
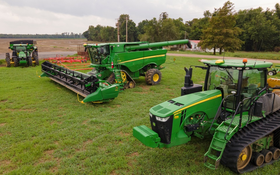
<path id="1" fill-rule="evenodd" d="M 171 140 L 171 131 L 173 124 L 173 115 L 166 122 L 161 122 L 156 120 L 155 115 L 150 117 L 150 122 L 152 126 L 152 130 L 158 134 L 160 137 L 160 142 L 169 144 Z M 153 125 L 155 123 L 155 126 Z"/>

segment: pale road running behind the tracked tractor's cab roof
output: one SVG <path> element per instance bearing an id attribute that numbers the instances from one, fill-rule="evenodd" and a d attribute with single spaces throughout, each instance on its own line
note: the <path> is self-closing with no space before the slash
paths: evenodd
<path id="1" fill-rule="evenodd" d="M 195 54 L 181 54 L 181 53 L 167 53 L 168 56 L 178 56 L 178 57 L 197 57 L 197 58 L 216 58 L 216 59 L 223 59 L 223 57 L 220 56 L 214 56 L 214 55 L 195 55 Z M 243 60 L 244 58 L 238 58 L 238 57 L 225 57 L 225 60 Z M 247 60 L 256 60 L 247 58 Z M 262 60 L 258 59 L 258 61 L 267 61 L 272 63 L 280 63 L 280 60 Z"/>

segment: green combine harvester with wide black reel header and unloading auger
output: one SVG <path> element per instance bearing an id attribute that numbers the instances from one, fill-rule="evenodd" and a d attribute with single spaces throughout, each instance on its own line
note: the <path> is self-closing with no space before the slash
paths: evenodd
<path id="1" fill-rule="evenodd" d="M 164 68 L 161 65 L 165 63 L 167 53 L 163 46 L 177 44 L 191 47 L 189 40 L 84 44 L 92 71 L 83 74 L 43 62 L 40 77 L 47 76 L 82 95 L 85 97 L 82 103 L 111 101 L 119 91 L 134 88 L 134 79 L 140 76 L 145 76 L 149 85 L 160 83 L 160 69 Z"/>

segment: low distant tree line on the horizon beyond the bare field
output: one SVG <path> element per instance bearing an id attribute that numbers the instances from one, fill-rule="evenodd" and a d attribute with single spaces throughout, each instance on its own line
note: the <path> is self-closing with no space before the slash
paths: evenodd
<path id="1" fill-rule="evenodd" d="M 83 34 L 64 32 L 62 34 L 0 34 L 0 38 L 84 38 Z"/>

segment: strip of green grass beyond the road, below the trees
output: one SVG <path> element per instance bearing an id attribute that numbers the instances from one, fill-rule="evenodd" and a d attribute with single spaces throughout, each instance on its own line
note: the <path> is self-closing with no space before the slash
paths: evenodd
<path id="1" fill-rule="evenodd" d="M 181 54 L 193 54 L 193 55 L 213 55 L 213 53 L 207 53 L 207 52 L 173 51 L 173 50 L 168 50 L 168 53 L 181 53 Z M 223 57 L 224 53 L 222 53 L 222 55 L 219 55 L 219 53 L 216 53 L 215 56 Z M 225 57 L 280 60 L 280 53 L 277 53 L 277 52 L 242 52 L 242 51 L 236 51 L 234 53 L 226 52 Z"/>

